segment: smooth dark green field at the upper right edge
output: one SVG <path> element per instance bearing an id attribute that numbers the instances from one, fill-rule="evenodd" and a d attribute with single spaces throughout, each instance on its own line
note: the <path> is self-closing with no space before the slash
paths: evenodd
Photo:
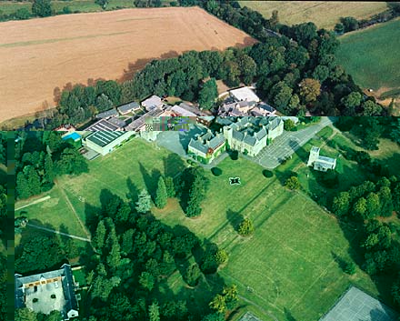
<path id="1" fill-rule="evenodd" d="M 400 19 L 343 35 L 337 59 L 364 88 L 399 88 Z"/>

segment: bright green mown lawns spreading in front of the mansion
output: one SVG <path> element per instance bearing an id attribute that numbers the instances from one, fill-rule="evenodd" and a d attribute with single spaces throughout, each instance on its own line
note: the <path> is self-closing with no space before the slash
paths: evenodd
<path id="1" fill-rule="evenodd" d="M 350 284 L 377 296 L 369 276 L 358 267 L 354 276 L 345 275 L 334 258 L 354 255 L 351 246 L 352 242 L 358 243 L 357 233 L 339 226 L 334 216 L 304 192 L 290 192 L 282 186 L 282 176 L 288 171 L 299 169 L 299 176 L 305 175 L 303 159 L 307 151 L 312 145 L 323 145 L 324 139 L 332 134 L 329 129 L 320 132 L 322 138 L 305 145 L 285 166 L 279 166 L 271 178 L 262 175 L 262 167 L 240 157 L 236 161 L 226 158 L 219 165 L 222 176 L 215 177 L 206 170 L 210 187 L 203 202 L 203 215 L 196 219 L 186 218 L 176 199 L 169 200 L 165 209 L 154 209 L 155 216 L 165 224 L 186 226 L 229 253 L 229 260 L 218 276 L 207 276 L 192 289 L 175 272 L 161 291 L 178 295 L 198 309 L 209 301 L 213 288 L 222 282 L 218 277 L 223 277 L 225 283 L 239 287 L 241 311 L 250 309 L 265 321 L 273 320 L 271 315 L 282 321 L 316 320 Z M 323 149 L 324 155 L 335 153 L 328 147 Z M 391 149 L 387 145 L 387 152 L 382 154 L 389 155 Z M 90 162 L 89 174 L 62 177 L 58 184 L 66 191 L 76 213 L 85 220 L 88 209 L 101 205 L 102 190 L 108 189 L 129 200 L 141 188 L 154 191 L 160 174 L 175 176 L 184 166 L 176 155 L 136 138 L 112 154 Z M 353 175 L 347 178 L 348 184 L 354 184 L 359 175 L 355 164 L 352 166 L 348 170 L 338 169 L 344 177 Z M 240 176 L 242 185 L 229 186 L 231 176 Z M 304 188 L 306 191 L 307 187 Z M 56 198 L 56 190 L 49 195 Z M 85 197 L 85 203 L 78 196 Z M 52 204 L 51 199 L 47 202 Z M 59 224 L 67 224 L 72 221 L 72 212 L 65 208 L 59 201 L 54 206 L 36 209 L 33 206 L 27 210 L 41 221 L 55 222 L 57 217 Z M 235 232 L 235 226 L 244 216 L 249 216 L 255 224 L 255 234 L 249 238 Z"/>

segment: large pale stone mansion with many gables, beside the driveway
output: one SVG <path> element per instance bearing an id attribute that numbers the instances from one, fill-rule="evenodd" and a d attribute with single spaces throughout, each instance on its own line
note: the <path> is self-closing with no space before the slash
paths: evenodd
<path id="1" fill-rule="evenodd" d="M 280 117 L 241 117 L 224 127 L 229 148 L 255 156 L 284 132 Z"/>

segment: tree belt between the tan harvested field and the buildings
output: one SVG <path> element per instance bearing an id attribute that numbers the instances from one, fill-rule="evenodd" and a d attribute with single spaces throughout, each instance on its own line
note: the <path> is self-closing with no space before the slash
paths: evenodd
<path id="1" fill-rule="evenodd" d="M 155 60 L 124 82 L 93 80 L 67 84 L 55 90 L 55 111 L 47 111 L 41 126 L 47 129 L 72 123 L 82 125 L 95 114 L 149 95 L 175 95 L 210 109 L 215 85 L 210 77 L 235 87 L 256 83 L 257 94 L 285 115 L 387 115 L 391 111 L 366 97 L 338 65 L 335 32 L 318 30 L 314 23 L 280 25 L 275 12 L 265 19 L 232 1 L 182 0 L 179 5 L 201 5 L 259 43 L 223 52 L 187 52 Z M 214 82 L 214 80 L 213 80 Z M 205 97 L 205 99 L 204 99 Z"/>

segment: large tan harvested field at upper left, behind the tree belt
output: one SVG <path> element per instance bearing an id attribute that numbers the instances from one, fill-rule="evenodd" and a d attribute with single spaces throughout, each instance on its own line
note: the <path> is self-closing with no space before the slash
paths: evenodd
<path id="1" fill-rule="evenodd" d="M 198 7 L 125 9 L 0 23 L 0 121 L 54 105 L 55 87 L 122 79 L 155 58 L 255 39 Z"/>

